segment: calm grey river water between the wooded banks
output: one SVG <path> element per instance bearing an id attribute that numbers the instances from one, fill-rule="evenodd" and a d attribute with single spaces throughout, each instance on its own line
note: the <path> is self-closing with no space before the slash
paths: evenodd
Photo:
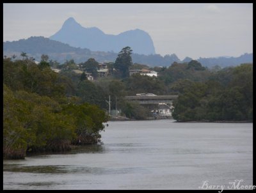
<path id="1" fill-rule="evenodd" d="M 235 180 L 253 185 L 252 123 L 108 125 L 102 145 L 3 160 L 3 189 L 228 189 Z"/>

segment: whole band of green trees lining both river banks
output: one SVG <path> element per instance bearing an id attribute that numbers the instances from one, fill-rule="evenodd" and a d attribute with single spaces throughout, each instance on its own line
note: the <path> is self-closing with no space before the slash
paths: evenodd
<path id="1" fill-rule="evenodd" d="M 191 60 L 149 68 L 133 64 L 131 52 L 125 47 L 115 63 L 106 64 L 108 77 L 99 77 L 99 63 L 93 58 L 60 65 L 48 62 L 44 54 L 40 63 L 26 52 L 20 54 L 22 60 L 4 57 L 3 158 L 100 143 L 108 121 L 158 120 L 150 118 L 147 105 L 125 100 L 136 93 L 179 95 L 172 104 L 177 123 L 253 122 L 253 64 L 210 70 Z M 79 68 L 92 74 L 93 81 L 84 72 L 74 72 Z M 129 75 L 131 69 L 144 68 L 156 71 L 157 77 Z M 114 109 L 118 118 L 109 116 Z"/>

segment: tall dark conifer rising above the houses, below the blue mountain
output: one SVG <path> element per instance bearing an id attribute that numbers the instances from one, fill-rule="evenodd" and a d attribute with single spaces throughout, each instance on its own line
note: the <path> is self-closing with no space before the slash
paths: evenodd
<path id="1" fill-rule="evenodd" d="M 127 46 L 124 47 L 116 58 L 114 68 L 116 70 L 117 77 L 129 77 L 129 67 L 132 65 L 132 49 Z"/>

